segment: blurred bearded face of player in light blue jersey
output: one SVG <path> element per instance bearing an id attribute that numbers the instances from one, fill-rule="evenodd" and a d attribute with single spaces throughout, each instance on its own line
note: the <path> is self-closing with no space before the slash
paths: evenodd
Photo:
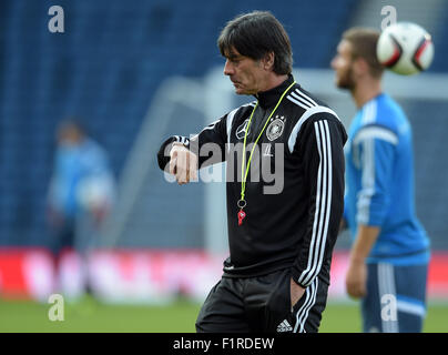
<path id="1" fill-rule="evenodd" d="M 338 88 L 355 89 L 356 81 L 353 67 L 352 44 L 346 40 L 342 40 L 337 45 L 337 53 L 332 60 L 332 68 L 336 73 L 335 82 Z"/>

